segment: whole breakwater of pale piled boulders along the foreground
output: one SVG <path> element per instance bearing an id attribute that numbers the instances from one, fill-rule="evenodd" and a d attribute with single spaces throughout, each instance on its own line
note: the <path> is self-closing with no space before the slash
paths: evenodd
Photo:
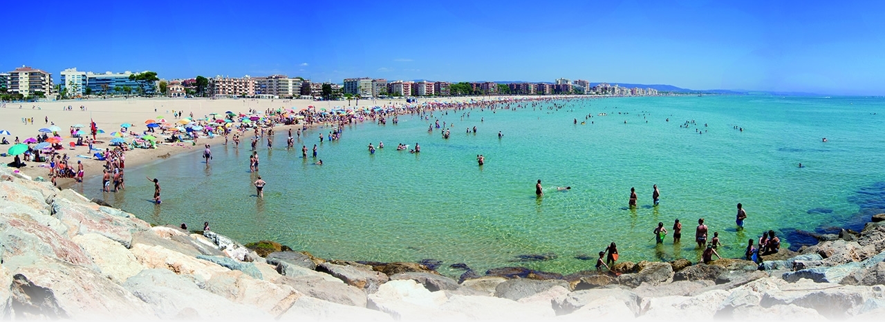
<path id="1" fill-rule="evenodd" d="M 0 317 L 453 320 L 847 318 L 885 313 L 885 223 L 755 263 L 568 275 L 329 260 L 148 223 L 0 168 Z M 821 277 L 822 276 L 822 277 Z M 838 280 L 838 281 L 836 281 Z M 678 315 L 677 315 L 678 314 Z"/>

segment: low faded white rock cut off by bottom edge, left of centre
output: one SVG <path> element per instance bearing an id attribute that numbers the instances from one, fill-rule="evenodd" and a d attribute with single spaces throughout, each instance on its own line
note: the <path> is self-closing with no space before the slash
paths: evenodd
<path id="1" fill-rule="evenodd" d="M 362 293 L 360 291 L 360 293 Z M 295 320 L 316 320 L 316 321 L 366 321 L 366 322 L 393 322 L 394 319 L 388 314 L 380 311 L 374 311 L 363 307 L 344 305 L 323 301 L 308 296 L 299 297 L 295 303 L 289 308 L 289 311 L 283 313 L 281 321 Z"/>

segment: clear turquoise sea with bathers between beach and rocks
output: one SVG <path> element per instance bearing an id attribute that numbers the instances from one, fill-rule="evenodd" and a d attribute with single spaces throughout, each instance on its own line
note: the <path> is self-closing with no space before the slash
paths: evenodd
<path id="1" fill-rule="evenodd" d="M 127 168 L 125 192 L 101 193 L 100 178 L 78 189 L 155 224 L 199 229 L 210 221 L 212 230 L 243 243 L 270 239 L 321 258 L 432 258 L 450 275 L 461 272 L 447 268 L 454 263 L 479 273 L 500 266 L 593 269 L 596 252 L 612 242 L 621 260 L 696 261 L 693 236 L 701 217 L 711 237 L 720 232 L 726 244 L 720 254 L 736 258 L 763 231 L 779 232 L 783 247 L 795 248 L 808 242 L 806 231 L 858 228 L 867 214 L 885 208 L 883 98 L 681 96 L 557 104 L 565 106 L 436 111 L 430 121 L 399 116 L 396 125 L 347 126 L 340 141 L 322 144 L 319 133 L 330 129 L 311 129 L 291 151 L 281 130 L 272 151 L 266 144 L 258 149 L 267 182 L 263 199 L 251 185 L 248 139 L 239 149 L 233 142 L 212 146 L 209 166 L 195 148 Z M 593 117 L 582 125 L 585 116 Z M 427 132 L 435 119 L 454 124 L 450 139 L 439 129 Z M 473 126 L 476 134 L 465 132 Z M 369 154 L 366 146 L 379 141 L 385 147 Z M 420 154 L 396 151 L 397 143 L 412 148 L 416 142 Z M 303 144 L 319 144 L 325 164 L 302 159 Z M 482 167 L 477 154 L 486 157 Z M 162 205 L 149 202 L 153 187 L 145 176 L 159 178 Z M 543 198 L 535 198 L 537 179 Z M 659 206 L 651 206 L 652 184 L 661 191 Z M 572 190 L 555 188 L 566 185 Z M 631 187 L 639 196 L 632 210 Z M 743 231 L 735 229 L 738 202 L 749 216 Z M 652 229 L 658 221 L 670 229 L 677 218 L 682 243 L 674 245 L 671 234 L 656 247 Z M 517 258 L 548 253 L 557 257 Z"/>

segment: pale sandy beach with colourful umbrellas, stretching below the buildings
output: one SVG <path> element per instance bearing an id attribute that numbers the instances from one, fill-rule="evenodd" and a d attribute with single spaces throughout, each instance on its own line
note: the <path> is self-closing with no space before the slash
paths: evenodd
<path id="1" fill-rule="evenodd" d="M 445 97 L 445 98 L 426 98 L 419 99 L 418 104 L 424 101 L 496 101 L 500 99 L 521 99 L 529 96 L 473 96 L 473 97 Z M 317 109 L 335 109 L 359 107 L 371 108 L 374 106 L 403 106 L 407 104 L 404 98 L 384 99 L 384 100 L 353 100 L 353 101 L 312 101 L 312 100 L 259 100 L 259 99 L 222 99 L 210 100 L 205 98 L 196 99 L 167 99 L 167 98 L 130 98 L 130 99 L 89 99 L 89 100 L 65 100 L 65 101 L 40 101 L 40 102 L 8 102 L 4 108 L 0 108 L 0 114 L 3 115 L 3 123 L 0 124 L 0 130 L 10 131 L 10 135 L 4 136 L 14 144 L 14 140 L 18 137 L 21 141 L 27 138 L 35 138 L 42 134 L 38 130 L 48 128 L 53 124 L 61 128 L 59 135 L 64 139 L 62 145 L 64 150 L 58 150 L 59 154 L 67 154 L 71 157 L 70 164 L 76 166 L 76 161 L 82 161 L 85 176 L 101 175 L 104 165 L 103 161 L 95 159 L 86 159 L 77 157 L 77 155 L 91 155 L 89 146 L 71 147 L 72 142 L 68 130 L 74 124 L 86 126 L 84 131 L 89 131 L 90 121 L 95 121 L 98 129 L 104 130 L 104 133 L 96 135 L 96 140 L 104 142 L 96 144 L 96 148 L 110 147 L 112 132 L 120 130 L 120 124 L 133 124 L 129 131 L 142 133 L 146 131 L 145 121 L 149 119 L 158 119 L 158 116 L 164 116 L 170 122 L 173 120 L 173 111 L 183 111 L 184 116 L 193 116 L 195 118 L 207 117 L 212 113 L 222 114 L 226 111 L 234 111 L 236 113 L 246 113 L 250 109 L 266 110 L 266 109 L 308 109 L 313 106 Z M 415 103 L 412 103 L 415 104 Z M 71 110 L 65 110 L 70 107 Z M 85 110 L 81 110 L 85 107 Z M 24 118 L 34 118 L 34 124 L 25 124 Z M 48 120 L 48 121 L 47 121 Z M 159 139 L 165 136 L 159 136 Z M 131 139 L 131 137 L 124 137 Z M 158 140 L 159 142 L 160 140 Z M 198 144 L 223 144 L 223 137 L 213 139 L 200 138 Z M 6 151 L 10 146 L 0 148 L 0 152 Z M 189 144 L 158 144 L 156 149 L 135 149 L 127 151 L 127 166 L 137 166 L 147 161 L 157 158 L 166 158 L 174 154 L 181 154 L 195 151 L 195 147 Z M 199 150 L 199 149 L 197 149 Z M 5 165 L 13 161 L 12 156 L 0 157 L 0 161 Z M 42 162 L 26 162 L 27 166 L 19 168 L 22 174 L 31 177 L 42 176 L 48 177 L 48 166 L 41 167 L 45 164 Z M 59 178 L 58 185 L 66 187 L 73 184 L 73 178 Z"/>

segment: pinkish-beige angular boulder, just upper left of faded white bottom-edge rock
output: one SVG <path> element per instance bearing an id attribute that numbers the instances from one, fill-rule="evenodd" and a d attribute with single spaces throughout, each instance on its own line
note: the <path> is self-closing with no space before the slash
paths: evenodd
<path id="1" fill-rule="evenodd" d="M 212 275 L 212 279 L 206 281 L 204 289 L 224 296 L 234 303 L 266 311 L 273 317 L 288 311 L 289 307 L 302 296 L 287 285 L 256 280 L 241 271 Z"/>

